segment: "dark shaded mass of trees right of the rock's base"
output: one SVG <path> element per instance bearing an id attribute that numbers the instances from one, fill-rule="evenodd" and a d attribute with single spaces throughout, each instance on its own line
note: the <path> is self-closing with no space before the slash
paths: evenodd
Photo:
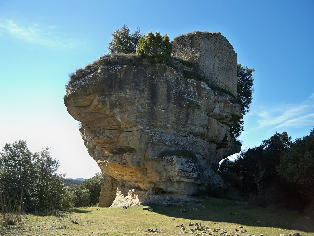
<path id="1" fill-rule="evenodd" d="M 218 173 L 226 172 L 241 179 L 248 199 L 300 210 L 314 201 L 314 129 L 294 142 L 287 132 L 276 132 L 234 162 L 225 159 Z"/>

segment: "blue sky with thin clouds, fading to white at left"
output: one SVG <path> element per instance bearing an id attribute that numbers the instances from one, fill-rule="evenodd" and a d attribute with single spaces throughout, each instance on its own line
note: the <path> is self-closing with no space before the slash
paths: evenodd
<path id="1" fill-rule="evenodd" d="M 66 177 L 91 177 L 77 121 L 63 104 L 68 74 L 103 54 L 111 33 L 221 32 L 238 63 L 255 68 L 242 149 L 276 131 L 293 138 L 314 126 L 313 1 L 1 1 L 0 146 L 23 138 L 49 146 Z"/>

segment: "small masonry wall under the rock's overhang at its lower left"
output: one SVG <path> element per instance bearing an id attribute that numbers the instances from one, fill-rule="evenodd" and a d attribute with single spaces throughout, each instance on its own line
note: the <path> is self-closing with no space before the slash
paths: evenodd
<path id="1" fill-rule="evenodd" d="M 116 198 L 119 182 L 110 175 L 104 174 L 99 196 L 99 207 L 110 207 Z"/>

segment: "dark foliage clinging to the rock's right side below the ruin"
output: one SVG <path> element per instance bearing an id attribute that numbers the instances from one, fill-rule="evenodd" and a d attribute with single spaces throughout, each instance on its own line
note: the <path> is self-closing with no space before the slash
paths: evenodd
<path id="1" fill-rule="evenodd" d="M 244 68 L 242 64 L 237 64 L 238 101 L 241 104 L 242 116 L 250 111 L 254 85 L 253 72 L 254 68 Z M 244 121 L 242 119 L 235 121 L 235 125 L 230 130 L 235 137 L 239 137 L 241 132 L 244 131 Z"/>

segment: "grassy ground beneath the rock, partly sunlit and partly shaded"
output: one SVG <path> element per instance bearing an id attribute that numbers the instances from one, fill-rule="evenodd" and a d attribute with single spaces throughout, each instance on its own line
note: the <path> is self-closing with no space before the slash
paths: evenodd
<path id="1" fill-rule="evenodd" d="M 227 234 L 236 236 L 234 229 L 241 230 L 242 226 L 247 234 L 264 236 L 298 232 L 301 236 L 314 236 L 314 221 L 306 219 L 297 212 L 274 210 L 260 207 L 247 207 L 234 201 L 216 198 L 203 198 L 200 205 L 159 206 L 151 205 L 154 211 L 144 211 L 143 207 L 124 208 L 72 208 L 58 211 L 54 214 L 40 216 L 28 214 L 24 227 L 12 226 L 1 235 L 27 236 L 105 236 L 105 235 L 223 235 L 213 232 L 215 228 L 224 229 Z M 186 211 L 182 212 L 183 208 Z M 98 210 L 97 210 L 98 209 Z M 71 221 L 77 221 L 78 224 Z M 265 222 L 265 225 L 257 223 Z M 191 233 L 190 222 L 198 222 L 210 230 Z M 183 224 L 185 230 L 176 225 Z M 148 228 L 157 232 L 151 233 Z M 281 229 L 281 230 L 279 230 Z"/>

